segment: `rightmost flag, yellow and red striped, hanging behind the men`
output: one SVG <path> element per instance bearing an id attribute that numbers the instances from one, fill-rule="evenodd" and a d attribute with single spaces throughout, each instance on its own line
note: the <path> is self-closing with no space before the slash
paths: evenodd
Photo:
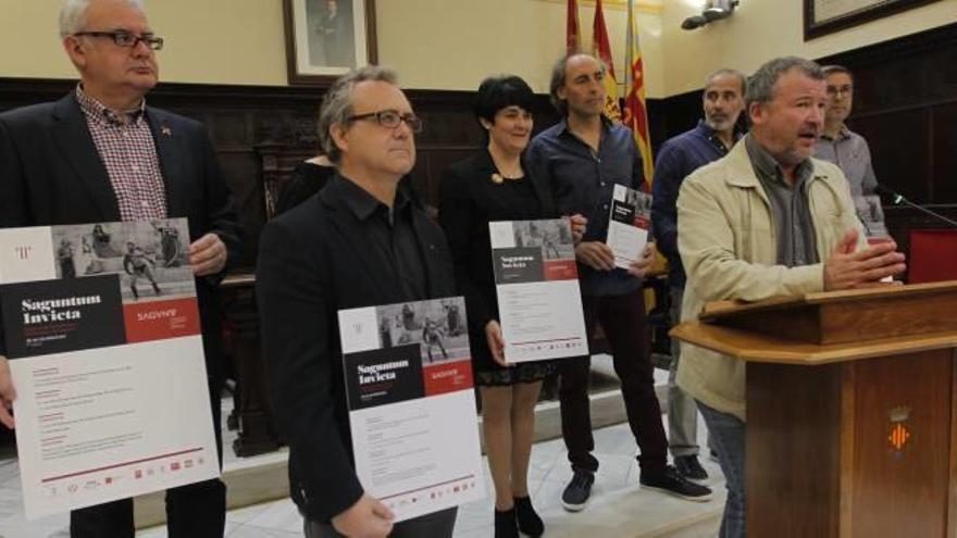
<path id="1" fill-rule="evenodd" d="M 625 39 L 624 124 L 635 135 L 635 143 L 642 152 L 645 165 L 645 180 L 651 184 L 655 161 L 651 158 L 651 137 L 648 132 L 648 109 L 645 107 L 645 66 L 642 48 L 638 46 L 638 25 L 635 21 L 635 0 L 629 0 L 627 38 Z"/>

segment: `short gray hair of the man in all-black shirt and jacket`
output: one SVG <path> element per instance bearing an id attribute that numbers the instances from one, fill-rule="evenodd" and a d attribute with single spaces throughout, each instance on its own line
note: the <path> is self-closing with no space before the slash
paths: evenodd
<path id="1" fill-rule="evenodd" d="M 340 76 L 330 86 L 319 109 L 319 147 L 330 161 L 338 164 L 343 152 L 330 133 L 333 125 L 346 125 L 352 115 L 352 89 L 366 80 L 398 86 L 396 72 L 378 65 L 366 65 Z"/>

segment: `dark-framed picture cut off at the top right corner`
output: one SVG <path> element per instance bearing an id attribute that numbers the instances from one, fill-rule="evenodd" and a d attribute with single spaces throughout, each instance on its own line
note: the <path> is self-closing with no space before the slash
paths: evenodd
<path id="1" fill-rule="evenodd" d="M 940 0 L 804 0 L 804 40 Z"/>

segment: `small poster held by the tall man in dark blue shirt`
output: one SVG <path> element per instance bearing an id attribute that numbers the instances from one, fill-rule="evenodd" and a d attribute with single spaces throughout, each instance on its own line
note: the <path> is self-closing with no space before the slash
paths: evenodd
<path id="1" fill-rule="evenodd" d="M 641 260 L 651 228 L 651 196 L 641 190 L 616 185 L 608 216 L 605 241 L 614 254 L 614 265 L 629 268 Z"/>

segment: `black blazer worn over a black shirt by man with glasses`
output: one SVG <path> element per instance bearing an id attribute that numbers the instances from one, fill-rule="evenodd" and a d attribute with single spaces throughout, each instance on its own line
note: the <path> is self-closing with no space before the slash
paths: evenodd
<path id="1" fill-rule="evenodd" d="M 316 522 L 363 492 L 352 462 L 338 311 L 410 299 L 366 246 L 368 223 L 343 198 L 347 180 L 334 176 L 318 196 L 266 223 L 256 274 L 270 400 L 289 443 L 289 489 Z M 445 235 L 411 203 L 427 295 L 452 296 Z"/>

